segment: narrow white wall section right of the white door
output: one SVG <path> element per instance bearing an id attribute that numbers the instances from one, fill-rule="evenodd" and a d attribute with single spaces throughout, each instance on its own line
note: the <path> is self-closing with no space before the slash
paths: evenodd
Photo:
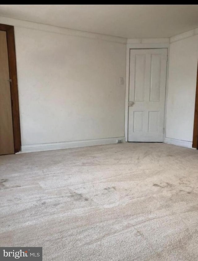
<path id="1" fill-rule="evenodd" d="M 192 147 L 198 35 L 179 39 L 180 36 L 172 38 L 176 42 L 170 43 L 169 50 L 166 141 L 188 141 L 184 145 Z"/>

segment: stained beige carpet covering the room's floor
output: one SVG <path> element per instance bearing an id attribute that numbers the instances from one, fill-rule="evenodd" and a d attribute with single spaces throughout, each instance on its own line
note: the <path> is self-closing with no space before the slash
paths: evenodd
<path id="1" fill-rule="evenodd" d="M 198 151 L 123 143 L 0 156 L 0 246 L 45 261 L 198 260 Z"/>

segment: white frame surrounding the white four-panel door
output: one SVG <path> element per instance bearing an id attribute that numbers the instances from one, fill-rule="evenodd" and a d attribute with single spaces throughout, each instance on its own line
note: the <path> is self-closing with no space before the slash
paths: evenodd
<path id="1" fill-rule="evenodd" d="M 137 43 L 139 40 L 139 43 Z M 129 40 L 130 41 L 130 40 Z M 124 120 L 124 133 L 125 133 L 125 141 L 128 142 L 128 101 L 129 101 L 129 69 L 130 69 L 130 50 L 131 49 L 161 49 L 166 48 L 168 57 L 169 57 L 169 39 L 167 42 L 161 43 L 161 39 L 153 39 L 153 43 L 141 43 L 141 39 L 131 39 L 134 43 L 127 43 L 127 50 L 126 50 L 126 92 L 125 92 L 125 120 Z M 158 42 L 159 41 L 159 42 Z M 167 89 L 168 89 L 168 64 L 169 59 L 167 62 L 166 67 L 166 94 L 165 94 L 165 116 L 166 116 L 166 100 L 167 100 Z M 166 117 L 164 117 L 164 141 L 166 137 Z"/>

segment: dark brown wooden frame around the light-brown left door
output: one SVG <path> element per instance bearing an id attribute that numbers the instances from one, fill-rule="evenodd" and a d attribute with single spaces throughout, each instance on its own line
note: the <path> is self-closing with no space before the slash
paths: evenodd
<path id="1" fill-rule="evenodd" d="M 14 150 L 16 153 L 19 152 L 21 149 L 21 133 L 20 133 L 20 118 L 19 118 L 19 95 L 18 95 L 18 84 L 17 84 L 14 26 L 7 25 L 7 24 L 0 24 L 0 30 L 6 31 L 6 38 L 7 38 L 8 63 L 9 63 L 9 72 L 10 72 L 10 80 L 11 80 L 10 90 L 11 90 Z"/>

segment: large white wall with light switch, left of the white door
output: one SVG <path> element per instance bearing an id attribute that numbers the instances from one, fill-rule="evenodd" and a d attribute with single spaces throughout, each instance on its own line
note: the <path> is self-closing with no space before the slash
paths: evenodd
<path id="1" fill-rule="evenodd" d="M 15 26 L 22 147 L 124 137 L 125 39 L 2 20 Z"/>

